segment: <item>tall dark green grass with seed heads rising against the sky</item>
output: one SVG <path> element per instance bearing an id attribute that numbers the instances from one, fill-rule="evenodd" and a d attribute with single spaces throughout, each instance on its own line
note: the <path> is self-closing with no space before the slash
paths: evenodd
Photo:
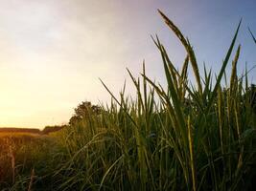
<path id="1" fill-rule="evenodd" d="M 162 57 L 168 87 L 152 81 L 144 64 L 142 78 L 136 79 L 128 71 L 137 92 L 134 98 L 126 96 L 125 88 L 119 98 L 113 96 L 103 82 L 112 96 L 111 104 L 97 106 L 100 112 L 95 112 L 91 104 L 83 102 L 75 110 L 76 120 L 46 137 L 47 143 L 43 141 L 41 145 L 33 140 L 37 147 L 33 146 L 28 156 L 36 159 L 31 163 L 24 164 L 21 160 L 18 163 L 29 170 L 16 172 L 15 177 L 5 179 L 6 183 L 0 188 L 253 189 L 256 177 L 255 87 L 249 87 L 247 72 L 241 76 L 237 73 L 240 45 L 229 79 L 223 78 L 241 23 L 214 80 L 211 71 L 204 69 L 204 74 L 199 74 L 189 40 L 159 12 L 187 52 L 182 70 L 178 71 L 159 38 L 153 38 Z M 189 85 L 189 65 L 197 88 Z M 6 161 L 8 159 L 13 160 L 6 157 Z M 17 168 L 10 163 L 11 169 Z"/>

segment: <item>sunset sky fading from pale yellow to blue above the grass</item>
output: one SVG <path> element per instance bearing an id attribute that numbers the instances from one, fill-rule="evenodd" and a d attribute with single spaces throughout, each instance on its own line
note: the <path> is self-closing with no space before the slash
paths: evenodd
<path id="1" fill-rule="evenodd" d="M 256 64 L 255 0 L 0 0 L 0 127 L 64 124 L 81 101 L 110 100 L 99 78 L 116 96 L 127 80 L 132 95 L 127 68 L 139 76 L 144 59 L 165 84 L 151 34 L 177 68 L 186 53 L 157 9 L 190 39 L 200 72 L 218 73 L 241 18 L 239 74 Z"/>

